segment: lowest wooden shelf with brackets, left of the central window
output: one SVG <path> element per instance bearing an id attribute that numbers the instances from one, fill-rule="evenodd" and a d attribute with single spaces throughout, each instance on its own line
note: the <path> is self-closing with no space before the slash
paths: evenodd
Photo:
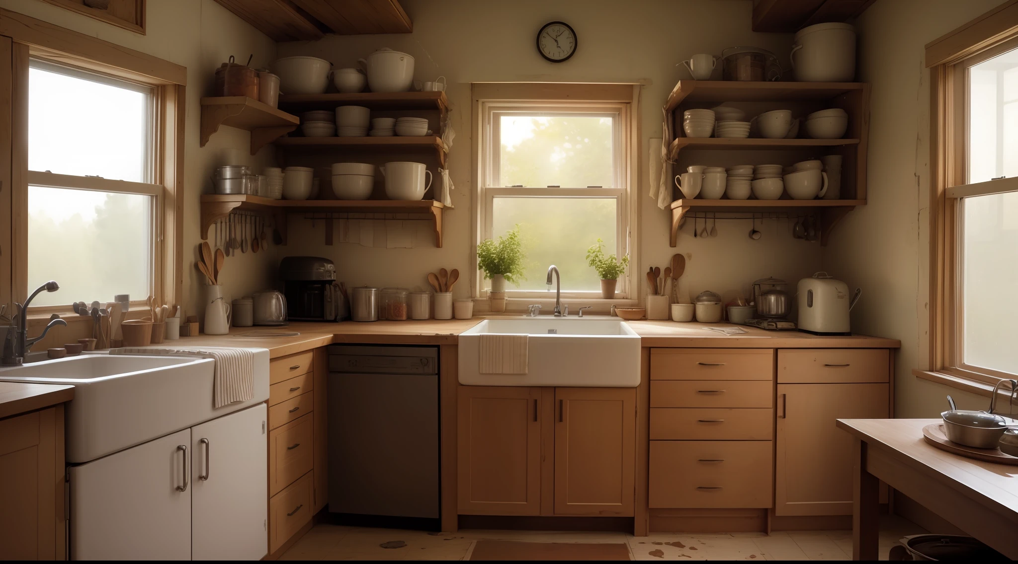
<path id="1" fill-rule="evenodd" d="M 234 209 L 271 214 L 286 244 L 287 213 L 386 213 L 420 215 L 435 224 L 435 246 L 442 247 L 442 209 L 435 200 L 274 200 L 246 194 L 204 194 L 202 196 L 202 239 L 209 228 Z M 328 229 L 328 228 L 327 228 Z"/>

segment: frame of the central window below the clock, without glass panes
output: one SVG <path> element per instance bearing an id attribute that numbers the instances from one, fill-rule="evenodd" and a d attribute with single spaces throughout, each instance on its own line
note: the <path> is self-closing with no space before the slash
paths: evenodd
<path id="1" fill-rule="evenodd" d="M 635 151 L 638 150 L 638 84 L 590 84 L 590 83 L 474 83 L 474 178 L 477 196 L 474 198 L 473 246 L 471 261 L 475 276 L 471 296 L 484 298 L 488 283 L 484 272 L 477 269 L 476 245 L 492 237 L 492 206 L 496 197 L 577 197 L 614 198 L 616 200 L 616 242 L 617 248 L 610 252 L 618 256 L 630 255 L 627 271 L 619 276 L 615 300 L 603 300 L 600 291 L 563 291 L 563 301 L 579 305 L 590 304 L 597 310 L 607 312 L 609 304 L 633 303 L 638 300 L 639 285 L 631 283 L 636 269 L 636 225 L 638 205 L 635 194 L 638 175 L 634 167 Z M 614 187 L 507 187 L 501 186 L 499 178 L 499 153 L 496 140 L 499 132 L 500 114 L 514 110 L 526 113 L 550 115 L 570 114 L 611 114 L 617 116 L 613 127 L 613 159 L 615 161 Z M 530 272 L 530 276 L 544 272 Z M 547 291 L 521 291 L 511 286 L 506 288 L 507 310 L 525 309 L 529 304 L 554 301 Z M 480 304 L 483 307 L 483 303 Z"/>

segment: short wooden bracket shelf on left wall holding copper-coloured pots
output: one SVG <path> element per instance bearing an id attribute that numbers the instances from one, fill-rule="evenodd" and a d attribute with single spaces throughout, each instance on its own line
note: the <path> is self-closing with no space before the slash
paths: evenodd
<path id="1" fill-rule="evenodd" d="M 202 99 L 202 140 L 209 142 L 220 125 L 251 132 L 250 151 L 257 153 L 266 143 L 297 128 L 300 119 L 268 104 L 243 96 Z"/>

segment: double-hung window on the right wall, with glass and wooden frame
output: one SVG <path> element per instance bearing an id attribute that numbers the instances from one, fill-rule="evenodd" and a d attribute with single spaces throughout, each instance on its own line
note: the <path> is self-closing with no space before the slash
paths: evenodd
<path id="1" fill-rule="evenodd" d="M 1018 23 L 1018 5 L 926 49 L 930 371 L 983 386 L 1018 378 L 1018 34 L 989 29 L 1004 20 Z"/>

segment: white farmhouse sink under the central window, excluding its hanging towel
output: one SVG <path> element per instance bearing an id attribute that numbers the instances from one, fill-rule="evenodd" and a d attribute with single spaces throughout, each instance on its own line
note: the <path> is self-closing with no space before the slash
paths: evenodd
<path id="1" fill-rule="evenodd" d="M 526 374 L 482 374 L 483 334 L 526 334 Z M 639 335 L 616 319 L 486 319 L 459 335 L 459 383 L 471 386 L 639 385 Z"/>

